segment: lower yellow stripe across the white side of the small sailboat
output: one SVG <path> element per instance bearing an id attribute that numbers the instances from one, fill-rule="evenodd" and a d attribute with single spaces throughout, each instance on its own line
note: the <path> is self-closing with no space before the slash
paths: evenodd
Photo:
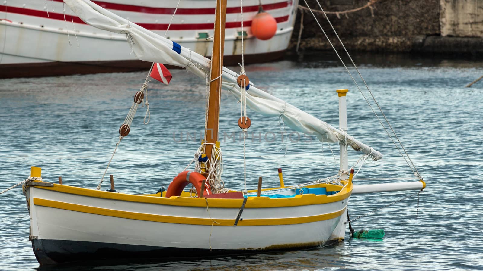
<path id="1" fill-rule="evenodd" d="M 98 207 L 73 204 L 73 203 L 63 203 L 63 202 L 44 200 L 39 198 L 34 198 L 33 203 L 38 206 L 51 207 L 51 208 L 63 209 L 63 210 L 74 211 L 74 212 L 82 212 L 82 213 L 94 214 L 99 216 L 120 217 L 120 218 L 164 222 L 164 223 L 207 225 L 207 226 L 211 226 L 212 224 L 213 226 L 233 226 L 233 224 L 235 223 L 235 218 L 233 219 L 213 218 L 212 220 L 211 218 L 152 215 L 152 214 L 143 214 L 143 213 L 98 208 Z M 323 221 L 323 220 L 340 217 L 344 212 L 345 212 L 345 207 L 344 209 L 337 212 L 317 215 L 317 216 L 309 216 L 309 217 L 243 219 L 238 222 L 238 226 L 273 226 L 273 225 L 303 224 L 303 223 Z M 233 215 L 236 216 L 236 212 L 234 212 Z M 216 221 L 216 223 L 213 223 L 213 221 Z"/>

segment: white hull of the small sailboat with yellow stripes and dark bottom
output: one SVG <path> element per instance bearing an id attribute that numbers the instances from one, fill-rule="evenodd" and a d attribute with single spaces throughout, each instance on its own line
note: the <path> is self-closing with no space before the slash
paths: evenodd
<path id="1" fill-rule="evenodd" d="M 126 195 L 60 185 L 26 188 L 30 238 L 41 263 L 63 261 L 52 253 L 71 258 L 71 254 L 81 252 L 77 244 L 83 244 L 82 249 L 96 246 L 96 250 L 120 249 L 118 246 L 129 247 L 129 251 L 164 249 L 170 256 L 170 251 L 179 250 L 205 251 L 208 255 L 214 251 L 215 255 L 316 247 L 344 238 L 349 196 L 349 190 L 337 198 L 306 194 L 291 201 L 326 203 L 260 208 L 257 204 L 273 205 L 281 199 L 249 197 L 241 220 L 233 226 L 242 199 L 162 198 L 159 194 Z M 133 202 L 137 198 L 141 202 Z M 59 242 L 63 245 L 52 248 Z"/>

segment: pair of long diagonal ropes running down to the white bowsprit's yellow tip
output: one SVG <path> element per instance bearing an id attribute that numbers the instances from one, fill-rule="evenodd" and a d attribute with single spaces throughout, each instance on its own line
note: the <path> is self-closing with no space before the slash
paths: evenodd
<path id="1" fill-rule="evenodd" d="M 335 49 L 334 45 L 332 44 L 332 42 L 330 41 L 330 39 L 328 38 L 327 36 L 327 33 L 324 31 L 323 27 L 321 26 L 320 22 L 318 21 L 317 17 L 315 16 L 315 14 L 313 13 L 313 10 L 309 7 L 309 4 L 307 3 L 306 0 L 304 0 L 305 2 L 305 5 L 307 6 L 307 9 L 310 11 L 310 13 L 313 15 L 313 18 L 315 19 L 315 22 L 317 23 L 317 25 L 320 27 L 320 29 L 322 30 L 322 33 L 324 34 L 324 36 L 327 38 L 327 41 L 329 42 L 330 46 L 332 47 L 332 49 L 334 50 L 335 54 L 337 55 L 337 57 L 339 58 L 339 60 L 341 61 L 342 65 L 344 66 L 345 70 L 347 71 L 347 73 L 349 73 L 349 76 L 351 77 L 352 81 L 354 81 L 355 83 L 355 86 L 357 87 L 357 89 L 359 90 L 359 92 L 362 94 L 362 96 L 364 97 L 364 99 L 366 100 L 367 104 L 369 105 L 369 108 L 372 110 L 372 112 L 374 113 L 374 115 L 376 116 L 377 120 L 379 121 L 379 123 L 381 124 L 381 126 L 383 126 L 384 128 L 384 131 L 386 132 L 386 134 L 389 136 L 389 138 L 391 139 L 391 141 L 393 142 L 394 146 L 396 146 L 396 149 L 398 149 L 399 153 L 401 154 L 402 158 L 404 159 L 404 161 L 408 164 L 408 166 L 410 167 L 412 173 L 414 174 L 414 176 L 420 178 L 420 179 L 423 179 L 416 166 L 414 165 L 414 163 L 412 162 L 411 158 L 409 157 L 409 154 L 408 152 L 406 151 L 406 149 L 404 148 L 404 146 L 402 145 L 401 141 L 399 140 L 399 137 L 397 136 L 396 132 L 394 131 L 394 129 L 392 128 L 391 124 L 389 123 L 389 120 L 387 119 L 387 117 L 385 116 L 381 106 L 379 105 L 379 103 L 376 101 L 376 98 L 374 97 L 374 95 L 372 94 L 372 92 L 370 91 L 369 89 L 369 86 L 367 84 L 367 82 L 364 80 L 362 74 L 360 73 L 359 69 L 357 68 L 357 66 L 355 65 L 355 62 L 354 60 L 352 59 L 352 57 L 350 56 L 349 52 L 347 51 L 347 49 L 345 48 L 343 42 L 341 41 L 341 38 L 339 37 L 339 35 L 337 34 L 337 31 L 335 30 L 335 28 L 333 27 L 332 23 L 330 22 L 329 18 L 327 17 L 327 13 L 324 11 L 324 9 L 322 8 L 322 6 L 320 5 L 320 2 L 319 0 L 316 0 L 318 6 L 320 7 L 322 13 L 324 14 L 324 16 L 326 17 L 327 19 L 327 22 L 328 24 L 330 25 L 330 27 L 332 28 L 334 34 L 336 35 L 337 39 L 339 42 L 341 42 L 341 45 L 342 45 L 342 48 L 344 49 L 345 53 L 347 54 L 347 56 L 349 57 L 352 65 L 354 66 L 355 70 L 357 71 L 359 77 L 362 79 L 362 81 L 364 82 L 364 85 L 366 86 L 366 89 L 369 91 L 369 94 L 370 96 L 372 97 L 372 100 L 374 101 L 374 103 L 377 105 L 377 107 L 379 108 L 379 111 L 381 112 L 381 114 L 383 115 L 384 117 L 384 120 L 385 122 L 387 123 L 387 125 L 389 126 L 390 130 L 392 131 L 392 134 L 394 135 L 394 137 L 396 138 L 396 140 L 398 141 L 399 144 L 396 143 L 396 141 L 394 140 L 394 138 L 391 136 L 391 134 L 389 134 L 389 131 L 386 129 L 384 123 L 381 121 L 381 119 L 379 118 L 378 114 L 376 113 L 376 111 L 374 110 L 374 108 L 371 106 L 371 104 L 369 103 L 369 100 L 367 99 L 366 95 L 364 95 L 364 93 L 362 92 L 361 88 L 359 87 L 359 85 L 357 84 L 357 82 L 355 81 L 354 77 L 352 76 L 352 73 L 349 71 L 349 69 L 347 68 L 347 66 L 345 65 L 344 61 L 342 60 L 340 54 L 337 52 L 337 50 Z M 402 149 L 402 151 L 401 151 Z M 404 154 L 403 154 L 404 152 Z M 409 161 L 409 162 L 408 162 Z"/>

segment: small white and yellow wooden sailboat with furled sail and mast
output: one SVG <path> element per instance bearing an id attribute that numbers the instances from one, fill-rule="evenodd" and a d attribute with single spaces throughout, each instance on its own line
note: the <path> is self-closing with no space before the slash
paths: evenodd
<path id="1" fill-rule="evenodd" d="M 65 2 L 86 23 L 125 33 L 141 59 L 185 67 L 206 77 L 210 90 L 205 140 L 195 161 L 197 167 L 173 176 L 167 191 L 133 195 L 73 187 L 45 182 L 41 169 L 32 167 L 23 190 L 30 215 L 29 236 L 41 264 L 86 257 L 195 257 L 310 248 L 344 238 L 347 205 L 354 189 L 354 170 L 348 168 L 347 147 L 360 150 L 373 160 L 382 157 L 377 150 L 344 132 L 347 90 L 337 91 L 341 108 L 339 130 L 258 90 L 252 82 L 250 91 L 243 83 L 236 84 L 239 75 L 223 68 L 226 0 L 217 0 L 211 61 L 129 24 L 88 0 Z M 156 55 L 155 59 L 152 55 Z M 310 131 L 323 142 L 339 142 L 338 179 L 285 187 L 280 173 L 280 186 L 270 189 L 233 191 L 214 187 L 221 175 L 217 133 L 222 87 L 244 98 L 249 108 L 277 115 L 283 110 L 280 115 L 288 126 Z M 239 125 L 247 129 L 248 122 L 242 116 Z M 183 191 L 187 184 L 196 188 L 196 194 Z M 404 189 L 422 189 L 424 185 L 421 180 Z"/>

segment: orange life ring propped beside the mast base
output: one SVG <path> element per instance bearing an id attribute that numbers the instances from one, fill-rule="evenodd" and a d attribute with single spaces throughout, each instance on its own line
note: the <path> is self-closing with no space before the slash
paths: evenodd
<path id="1" fill-rule="evenodd" d="M 201 173 L 188 170 L 183 171 L 182 173 L 178 174 L 178 176 L 174 177 L 173 181 L 170 183 L 168 190 L 166 190 L 166 197 L 169 198 L 171 196 L 181 196 L 181 192 L 189 183 L 195 186 L 196 194 L 199 197 L 199 191 L 201 191 L 201 184 L 204 180 L 206 180 L 206 177 L 203 176 Z M 203 192 L 203 194 L 211 194 L 210 185 L 208 184 L 208 182 L 205 183 L 205 191 Z"/>

